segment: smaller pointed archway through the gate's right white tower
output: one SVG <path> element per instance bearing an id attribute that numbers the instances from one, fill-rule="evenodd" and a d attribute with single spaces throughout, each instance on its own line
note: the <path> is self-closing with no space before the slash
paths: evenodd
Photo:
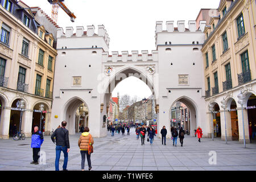
<path id="1" fill-rule="evenodd" d="M 189 135 L 195 136 L 195 131 L 199 126 L 197 121 L 197 110 L 195 103 L 188 97 L 178 98 L 172 104 L 169 112 L 171 127 L 183 127 Z M 176 119 L 174 119 L 174 116 Z"/>

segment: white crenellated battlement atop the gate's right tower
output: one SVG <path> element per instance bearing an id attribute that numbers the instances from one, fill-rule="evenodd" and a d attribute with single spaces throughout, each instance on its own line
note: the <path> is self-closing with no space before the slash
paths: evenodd
<path id="1" fill-rule="evenodd" d="M 155 33 L 157 34 L 159 32 L 197 32 L 197 31 L 203 32 L 205 24 L 206 24 L 206 21 L 201 20 L 199 30 L 196 30 L 195 20 L 188 21 L 188 28 L 185 28 L 184 20 L 177 21 L 177 27 L 174 26 L 174 21 L 167 21 L 166 30 L 163 30 L 163 22 L 157 21 L 155 26 Z"/>

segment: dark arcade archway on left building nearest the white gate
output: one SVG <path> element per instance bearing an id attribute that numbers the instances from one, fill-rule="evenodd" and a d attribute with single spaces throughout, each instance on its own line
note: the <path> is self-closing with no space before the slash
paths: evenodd
<path id="1" fill-rule="evenodd" d="M 43 111 L 40 111 L 40 105 L 43 105 Z M 31 126 L 31 132 L 34 131 L 34 126 L 38 125 L 39 130 L 42 132 L 47 131 L 47 126 L 49 122 L 49 107 L 44 102 L 38 102 L 33 107 L 33 116 L 32 116 L 32 126 Z"/>

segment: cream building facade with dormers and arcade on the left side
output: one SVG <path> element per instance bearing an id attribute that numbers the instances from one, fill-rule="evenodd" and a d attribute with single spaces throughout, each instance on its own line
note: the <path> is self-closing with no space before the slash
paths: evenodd
<path id="1" fill-rule="evenodd" d="M 0 138 L 12 137 L 14 125 L 27 137 L 36 124 L 41 123 L 46 133 L 51 130 L 57 51 L 53 35 L 35 19 L 36 13 L 22 1 L 0 1 Z M 23 109 L 18 107 L 20 100 Z M 42 104 L 43 113 L 39 110 Z"/>

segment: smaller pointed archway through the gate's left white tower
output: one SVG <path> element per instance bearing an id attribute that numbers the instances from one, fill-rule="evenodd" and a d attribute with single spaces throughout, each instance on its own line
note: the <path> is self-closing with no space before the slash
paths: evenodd
<path id="1" fill-rule="evenodd" d="M 69 134 L 75 134 L 80 131 L 80 128 L 77 127 L 77 125 L 80 124 L 80 122 L 77 121 L 77 115 L 81 115 L 79 113 L 84 113 L 85 111 L 89 114 L 88 106 L 79 97 L 74 97 L 65 104 L 63 118 L 67 121 L 66 127 L 69 130 Z M 89 124 L 88 122 L 88 126 Z"/>

